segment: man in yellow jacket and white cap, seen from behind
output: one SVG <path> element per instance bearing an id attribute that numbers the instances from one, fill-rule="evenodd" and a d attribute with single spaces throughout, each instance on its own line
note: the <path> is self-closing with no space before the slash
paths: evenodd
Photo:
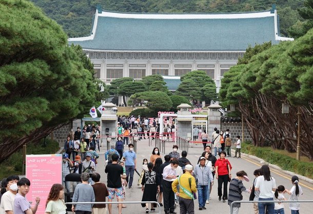
<path id="1" fill-rule="evenodd" d="M 185 173 L 173 181 L 173 192 L 179 197 L 180 214 L 194 214 L 193 192 L 197 192 L 195 179 L 191 175 L 193 167 L 190 164 L 185 166 Z M 179 192 L 177 186 L 179 185 Z"/>

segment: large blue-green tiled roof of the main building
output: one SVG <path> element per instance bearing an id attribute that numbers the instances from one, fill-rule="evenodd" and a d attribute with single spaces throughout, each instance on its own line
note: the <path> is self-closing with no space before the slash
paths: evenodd
<path id="1" fill-rule="evenodd" d="M 270 14 L 269 11 L 268 13 Z M 275 36 L 273 15 L 250 15 L 246 18 L 186 17 L 134 18 L 99 15 L 95 22 L 94 35 L 70 38 L 69 44 L 79 44 L 88 50 L 244 51 L 249 45 L 253 47 L 269 41 L 272 44 L 279 42 Z"/>

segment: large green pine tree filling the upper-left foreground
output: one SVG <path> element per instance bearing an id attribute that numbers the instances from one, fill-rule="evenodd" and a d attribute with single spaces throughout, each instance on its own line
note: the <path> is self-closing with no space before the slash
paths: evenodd
<path id="1" fill-rule="evenodd" d="M 0 3 L 0 162 L 89 111 L 90 61 L 29 1 Z"/>

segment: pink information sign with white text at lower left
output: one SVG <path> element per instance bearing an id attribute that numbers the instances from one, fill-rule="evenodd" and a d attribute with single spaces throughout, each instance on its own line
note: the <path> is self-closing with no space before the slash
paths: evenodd
<path id="1" fill-rule="evenodd" d="M 36 213 L 45 213 L 51 186 L 62 184 L 62 154 L 26 155 L 26 178 L 30 181 L 27 200 L 35 203 L 35 198 L 40 197 Z"/>

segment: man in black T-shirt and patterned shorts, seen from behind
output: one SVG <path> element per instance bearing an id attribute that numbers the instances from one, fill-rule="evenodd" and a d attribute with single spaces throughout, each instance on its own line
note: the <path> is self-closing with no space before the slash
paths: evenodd
<path id="1" fill-rule="evenodd" d="M 123 200 L 123 187 L 121 181 L 121 175 L 123 175 L 123 167 L 118 164 L 119 155 L 112 154 L 112 164 L 108 164 L 105 167 L 105 172 L 108 173 L 108 201 L 111 202 L 114 199 L 114 195 L 119 202 Z M 126 176 L 125 176 L 126 178 Z M 112 204 L 108 204 L 109 214 L 112 214 Z M 119 214 L 122 213 L 122 203 L 119 204 Z"/>

